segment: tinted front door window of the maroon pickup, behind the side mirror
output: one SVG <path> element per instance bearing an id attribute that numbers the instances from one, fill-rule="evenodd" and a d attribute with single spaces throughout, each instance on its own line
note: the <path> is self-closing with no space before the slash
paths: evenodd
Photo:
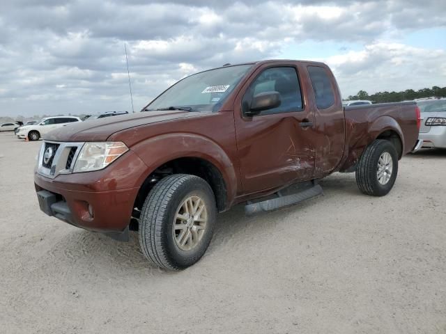
<path id="1" fill-rule="evenodd" d="M 261 115 L 302 110 L 302 96 L 300 94 L 298 74 L 295 72 L 295 68 L 272 67 L 264 70 L 251 86 L 249 86 L 243 97 L 244 111 L 249 108 L 254 95 L 274 91 L 280 94 L 280 106 L 262 111 Z"/>

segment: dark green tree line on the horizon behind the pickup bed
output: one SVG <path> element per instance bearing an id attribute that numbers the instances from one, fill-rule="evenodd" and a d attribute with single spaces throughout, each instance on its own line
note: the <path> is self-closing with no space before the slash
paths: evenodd
<path id="1" fill-rule="evenodd" d="M 378 92 L 369 95 L 365 90 L 360 90 L 356 95 L 348 96 L 348 100 L 370 100 L 376 103 L 401 102 L 406 100 L 423 99 L 426 97 L 446 97 L 446 87 L 423 88 L 419 90 L 406 89 L 401 92 Z"/>

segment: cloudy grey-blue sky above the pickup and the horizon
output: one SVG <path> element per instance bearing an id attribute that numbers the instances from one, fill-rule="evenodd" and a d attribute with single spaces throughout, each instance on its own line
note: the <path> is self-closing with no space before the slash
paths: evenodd
<path id="1" fill-rule="evenodd" d="M 446 86 L 446 1 L 1 0 L 0 116 L 141 109 L 187 74 L 325 61 L 344 97 Z"/>

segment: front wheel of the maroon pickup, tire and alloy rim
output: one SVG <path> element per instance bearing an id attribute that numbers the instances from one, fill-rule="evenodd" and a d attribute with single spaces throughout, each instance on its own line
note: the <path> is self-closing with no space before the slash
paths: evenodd
<path id="1" fill-rule="evenodd" d="M 155 184 L 141 209 L 141 250 L 157 267 L 190 267 L 208 249 L 216 215 L 213 191 L 201 177 L 164 177 Z"/>

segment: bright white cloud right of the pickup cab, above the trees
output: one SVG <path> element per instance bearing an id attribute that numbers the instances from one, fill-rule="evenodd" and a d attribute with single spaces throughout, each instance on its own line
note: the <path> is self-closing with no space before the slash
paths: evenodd
<path id="1" fill-rule="evenodd" d="M 337 76 L 344 97 L 360 89 L 376 93 L 445 86 L 446 51 L 442 49 L 376 42 L 325 61 Z"/>

